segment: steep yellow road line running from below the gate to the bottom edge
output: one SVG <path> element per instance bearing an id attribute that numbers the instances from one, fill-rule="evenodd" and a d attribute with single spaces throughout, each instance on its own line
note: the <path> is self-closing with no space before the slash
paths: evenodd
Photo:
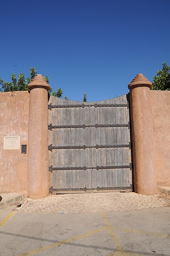
<path id="1" fill-rule="evenodd" d="M 108 218 L 106 217 L 106 212 L 101 212 L 100 215 L 103 218 L 104 224 L 106 225 L 106 227 L 108 229 L 108 232 L 111 235 L 111 238 L 114 242 L 114 245 L 115 245 L 117 251 L 119 251 L 119 255 L 120 256 L 125 256 L 126 255 L 125 254 L 125 249 L 123 248 L 123 246 L 120 242 L 120 239 L 118 238 L 116 232 L 114 232 L 114 228 L 112 227 L 112 225 L 108 221 Z M 117 252 L 115 252 L 115 253 L 117 253 Z M 115 255 L 117 255 L 117 254 L 115 254 Z"/>

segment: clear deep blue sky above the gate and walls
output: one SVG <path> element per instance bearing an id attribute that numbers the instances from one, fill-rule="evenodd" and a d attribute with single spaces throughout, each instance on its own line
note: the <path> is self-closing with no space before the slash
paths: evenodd
<path id="1" fill-rule="evenodd" d="M 70 100 L 129 92 L 170 65 L 170 0 L 1 0 L 0 78 L 50 77 Z"/>

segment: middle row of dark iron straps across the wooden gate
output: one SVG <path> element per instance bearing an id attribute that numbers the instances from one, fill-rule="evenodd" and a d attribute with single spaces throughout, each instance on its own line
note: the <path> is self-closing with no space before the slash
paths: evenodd
<path id="1" fill-rule="evenodd" d="M 95 145 L 95 146 L 91 146 L 91 148 L 117 148 L 117 147 L 129 147 L 129 149 L 131 148 L 131 144 L 129 142 L 129 144 L 124 144 L 124 145 Z M 86 149 L 86 148 L 90 148 L 90 146 L 53 146 L 53 144 L 50 144 L 50 146 L 48 146 L 48 150 L 53 151 L 53 149 Z"/>

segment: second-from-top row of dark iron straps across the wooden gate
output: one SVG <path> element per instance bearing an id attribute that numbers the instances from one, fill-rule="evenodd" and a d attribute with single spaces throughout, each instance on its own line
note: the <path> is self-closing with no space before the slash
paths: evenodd
<path id="1" fill-rule="evenodd" d="M 130 128 L 129 122 L 127 124 L 95 124 L 95 125 L 53 125 L 50 124 L 48 125 L 48 129 L 52 131 L 53 129 L 58 129 L 58 128 L 83 128 L 85 129 L 86 127 L 95 127 L 95 128 L 103 128 L 103 127 L 128 127 Z"/>

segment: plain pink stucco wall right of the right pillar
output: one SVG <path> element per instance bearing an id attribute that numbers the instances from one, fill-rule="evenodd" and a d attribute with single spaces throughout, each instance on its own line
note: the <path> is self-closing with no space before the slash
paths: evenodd
<path id="1" fill-rule="evenodd" d="M 170 91 L 150 91 L 158 185 L 170 185 Z"/>

